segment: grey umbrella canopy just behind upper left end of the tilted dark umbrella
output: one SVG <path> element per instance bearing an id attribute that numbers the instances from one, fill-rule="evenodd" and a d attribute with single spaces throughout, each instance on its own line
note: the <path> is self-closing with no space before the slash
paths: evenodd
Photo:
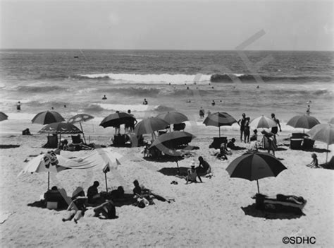
<path id="1" fill-rule="evenodd" d="M 154 131 L 166 129 L 168 122 L 164 121 L 158 117 L 151 117 L 143 119 L 141 122 L 138 122 L 135 126 L 135 134 L 137 136 L 142 134 L 152 134 Z"/>

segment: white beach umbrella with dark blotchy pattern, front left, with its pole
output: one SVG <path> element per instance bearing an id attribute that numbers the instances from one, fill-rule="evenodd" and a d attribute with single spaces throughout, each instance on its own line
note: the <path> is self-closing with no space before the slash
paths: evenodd
<path id="1" fill-rule="evenodd" d="M 69 169 L 63 166 L 67 163 L 69 159 L 61 155 L 56 155 L 54 153 L 40 154 L 37 157 L 30 160 L 27 165 L 23 168 L 19 175 L 22 173 L 48 173 L 47 189 L 50 188 L 50 172 L 58 173 L 62 170 Z M 18 175 L 18 176 L 19 176 Z"/>

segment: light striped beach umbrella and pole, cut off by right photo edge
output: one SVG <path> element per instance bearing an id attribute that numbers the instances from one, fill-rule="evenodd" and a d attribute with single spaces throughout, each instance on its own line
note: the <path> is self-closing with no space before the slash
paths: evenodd
<path id="1" fill-rule="evenodd" d="M 334 143 L 334 124 L 318 124 L 307 132 L 314 141 L 321 141 L 327 144 L 326 163 L 328 160 L 328 146 Z"/>

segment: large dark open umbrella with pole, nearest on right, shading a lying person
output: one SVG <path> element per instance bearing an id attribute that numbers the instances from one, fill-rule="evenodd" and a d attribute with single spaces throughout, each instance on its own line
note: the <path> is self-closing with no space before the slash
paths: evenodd
<path id="1" fill-rule="evenodd" d="M 245 153 L 233 160 L 226 168 L 230 177 L 256 180 L 259 194 L 259 179 L 276 177 L 285 169 L 280 160 L 270 153 Z"/>

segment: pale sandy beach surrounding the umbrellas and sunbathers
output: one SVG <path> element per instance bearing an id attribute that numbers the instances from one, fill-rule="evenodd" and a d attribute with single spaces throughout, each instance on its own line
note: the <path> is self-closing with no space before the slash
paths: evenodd
<path id="1" fill-rule="evenodd" d="M 9 121 L 7 121 L 9 122 Z M 8 125 L 1 123 L 1 129 Z M 22 126 L 23 127 L 23 126 Z M 110 130 L 109 130 L 110 131 Z M 179 161 L 189 167 L 203 156 L 212 167 L 214 177 L 202 177 L 204 183 L 185 184 L 184 179 L 163 175 L 159 170 L 175 168 L 173 162 L 153 162 L 143 159 L 142 148 L 113 148 L 123 155 L 116 173 L 107 174 L 109 189 L 122 185 L 131 194 L 132 182 L 154 190 L 171 203 L 154 201 L 146 208 L 116 207 L 117 219 L 101 220 L 92 216 L 92 208 L 78 224 L 63 223 L 66 211 L 28 206 L 39 201 L 47 189 L 47 174 L 19 172 L 31 155 L 47 152 L 42 148 L 46 136 L 34 134 L 1 134 L 1 244 L 3 247 L 284 247 L 283 237 L 316 237 L 316 247 L 333 246 L 333 170 L 311 169 L 311 153 L 318 154 L 319 163 L 326 160 L 326 144 L 316 141 L 314 150 L 291 150 L 284 131 L 278 136 L 276 157 L 287 170 L 278 177 L 259 180 L 262 194 L 293 194 L 307 199 L 304 215 L 295 213 L 263 213 L 254 208 L 256 182 L 230 178 L 226 167 L 243 150 L 233 151 L 228 160 L 209 155 L 209 144 L 217 129 L 199 126 L 192 141 L 190 158 Z M 238 131 L 222 129 L 222 134 L 238 140 Z M 106 145 L 108 136 L 87 134 L 90 141 Z M 18 146 L 4 148 L 5 145 Z M 238 146 L 247 146 L 237 142 Z M 261 150 L 262 152 L 264 150 Z M 87 151 L 62 152 L 62 155 L 82 156 Z M 328 155 L 331 158 L 331 153 Z M 166 170 L 166 169 L 165 169 Z M 104 173 L 94 170 L 67 170 L 51 176 L 51 186 L 63 187 L 70 195 L 82 186 L 85 191 L 94 180 L 105 190 Z M 172 181 L 178 184 L 171 184 Z M 4 218 L 5 217 L 5 218 Z"/>

